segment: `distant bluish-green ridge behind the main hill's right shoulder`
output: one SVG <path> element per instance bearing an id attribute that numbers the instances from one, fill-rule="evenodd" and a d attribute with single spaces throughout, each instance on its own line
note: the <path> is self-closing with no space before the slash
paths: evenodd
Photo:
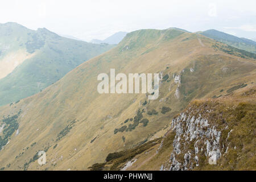
<path id="1" fill-rule="evenodd" d="M 222 43 L 228 44 L 229 46 L 256 53 L 256 42 L 254 42 L 253 40 L 238 38 L 237 36 L 229 35 L 217 30 L 207 30 L 201 32 L 200 34 L 207 36 L 208 38 L 212 38 L 214 40 L 218 40 Z"/>

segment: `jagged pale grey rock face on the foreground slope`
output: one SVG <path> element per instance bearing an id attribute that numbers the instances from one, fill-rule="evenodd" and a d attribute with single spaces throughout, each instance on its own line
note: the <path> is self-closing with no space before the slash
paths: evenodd
<path id="1" fill-rule="evenodd" d="M 208 158 L 209 164 L 216 164 L 226 148 L 220 146 L 221 131 L 214 122 L 209 122 L 208 115 L 199 109 L 187 109 L 172 119 L 170 132 L 175 133 L 170 159 L 160 170 L 191 170 L 200 165 L 200 158 Z"/>

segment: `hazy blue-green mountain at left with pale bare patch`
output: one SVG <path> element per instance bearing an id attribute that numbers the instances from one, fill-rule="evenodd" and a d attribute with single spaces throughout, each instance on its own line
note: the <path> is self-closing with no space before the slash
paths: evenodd
<path id="1" fill-rule="evenodd" d="M 63 38 L 46 28 L 0 24 L 0 105 L 32 96 L 113 46 Z"/>

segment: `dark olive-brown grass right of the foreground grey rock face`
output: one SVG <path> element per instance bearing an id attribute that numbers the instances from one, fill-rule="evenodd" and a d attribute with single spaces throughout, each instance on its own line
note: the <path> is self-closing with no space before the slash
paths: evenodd
<path id="1" fill-rule="evenodd" d="M 196 169 L 254 170 L 256 105 L 240 102 L 236 107 L 223 104 L 216 104 L 214 107 L 216 109 L 210 115 L 211 121 L 217 122 L 218 130 L 222 130 L 220 146 L 229 146 L 229 150 L 221 156 L 214 168 L 205 161 L 207 159 L 201 158 L 201 166 Z M 228 129 L 224 127 L 226 124 Z"/>

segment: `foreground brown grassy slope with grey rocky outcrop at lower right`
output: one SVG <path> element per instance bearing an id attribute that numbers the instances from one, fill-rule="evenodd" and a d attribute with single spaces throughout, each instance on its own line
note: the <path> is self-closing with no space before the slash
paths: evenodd
<path id="1" fill-rule="evenodd" d="M 233 90 L 228 96 L 192 101 L 170 122 L 163 138 L 109 154 L 105 163 L 94 164 L 90 169 L 255 170 L 255 94 L 256 86 L 251 85 Z M 185 115 L 188 117 L 184 118 Z M 201 118 L 200 122 L 206 118 L 216 133 L 210 133 L 209 126 L 201 127 L 200 122 L 193 125 L 197 118 Z M 178 119 L 181 119 L 180 124 L 176 123 Z M 180 130 L 180 126 L 183 130 Z M 186 134 L 193 132 L 196 127 L 199 128 L 199 132 L 194 133 L 196 137 L 191 140 L 191 135 L 188 135 L 186 138 Z M 204 135 L 204 131 L 209 134 Z M 219 142 L 215 143 L 217 137 Z M 180 149 L 179 154 L 177 149 Z M 208 150 L 220 151 L 216 165 L 209 164 Z"/>

